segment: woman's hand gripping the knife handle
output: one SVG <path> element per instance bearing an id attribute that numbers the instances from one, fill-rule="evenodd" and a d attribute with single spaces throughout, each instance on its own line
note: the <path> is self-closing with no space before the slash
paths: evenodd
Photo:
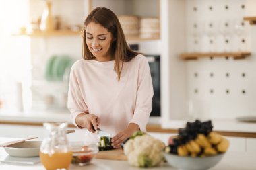
<path id="1" fill-rule="evenodd" d="M 100 120 L 95 114 L 81 113 L 75 118 L 76 124 L 79 128 L 87 128 L 90 132 L 94 133 L 98 129 Z"/>

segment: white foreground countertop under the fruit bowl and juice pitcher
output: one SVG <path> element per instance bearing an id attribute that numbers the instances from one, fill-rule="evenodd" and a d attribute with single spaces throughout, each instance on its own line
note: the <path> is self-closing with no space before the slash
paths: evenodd
<path id="1" fill-rule="evenodd" d="M 3 141 L 6 138 L 0 138 L 0 141 Z M 9 141 L 9 140 L 8 140 Z M 253 152 L 238 152 L 238 151 L 228 151 L 226 155 L 224 155 L 223 159 L 212 168 L 212 170 L 253 170 L 256 169 L 256 162 L 255 162 L 256 153 Z M 7 157 L 7 153 L 4 151 L 3 148 L 0 148 L 0 158 Z M 18 163 L 3 163 L 0 162 L 0 169 L 1 170 L 42 170 L 44 167 L 42 164 L 38 163 L 36 165 L 25 165 L 25 164 L 18 164 Z M 113 160 L 105 160 L 105 159 L 94 159 L 90 165 L 86 167 L 77 167 L 75 165 L 71 165 L 69 170 L 79 170 L 79 169 L 87 169 L 87 170 L 109 170 L 109 169 L 130 169 L 130 170 L 141 170 L 138 167 L 132 167 L 127 163 L 127 161 L 113 161 Z M 170 167 L 168 163 L 164 163 L 160 167 L 154 168 L 147 168 L 147 169 L 158 169 L 158 170 L 167 170 L 173 169 L 174 167 Z"/>

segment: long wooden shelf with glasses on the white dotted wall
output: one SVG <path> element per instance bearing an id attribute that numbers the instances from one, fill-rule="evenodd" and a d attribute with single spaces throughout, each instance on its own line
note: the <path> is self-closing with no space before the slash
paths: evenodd
<path id="1" fill-rule="evenodd" d="M 246 56 L 251 55 L 251 52 L 194 52 L 194 53 L 183 53 L 180 57 L 183 60 L 196 60 L 197 58 L 205 57 L 226 57 L 230 56 L 234 59 L 243 59 Z"/>

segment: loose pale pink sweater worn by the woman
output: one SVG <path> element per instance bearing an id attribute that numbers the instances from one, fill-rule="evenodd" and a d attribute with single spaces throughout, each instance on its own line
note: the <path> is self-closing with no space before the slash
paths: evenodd
<path id="1" fill-rule="evenodd" d="M 150 67 L 141 54 L 124 62 L 120 81 L 114 61 L 81 59 L 71 68 L 67 106 L 73 124 L 78 114 L 89 112 L 100 118 L 99 128 L 112 136 L 129 123 L 146 131 L 152 97 Z"/>

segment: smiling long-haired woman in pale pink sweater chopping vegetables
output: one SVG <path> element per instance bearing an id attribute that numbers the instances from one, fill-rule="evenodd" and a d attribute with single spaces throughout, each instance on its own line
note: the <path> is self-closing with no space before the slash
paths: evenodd
<path id="1" fill-rule="evenodd" d="M 146 57 L 129 48 L 113 11 L 97 7 L 84 22 L 83 59 L 71 68 L 68 108 L 73 124 L 113 136 L 114 148 L 146 131 L 153 87 Z"/>

